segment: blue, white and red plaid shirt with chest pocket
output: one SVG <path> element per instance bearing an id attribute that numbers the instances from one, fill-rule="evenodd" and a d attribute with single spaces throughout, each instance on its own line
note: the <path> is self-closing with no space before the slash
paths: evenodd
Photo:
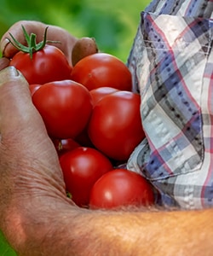
<path id="1" fill-rule="evenodd" d="M 127 167 L 165 207 L 213 206 L 213 0 L 153 1 L 128 66 L 146 139 Z"/>

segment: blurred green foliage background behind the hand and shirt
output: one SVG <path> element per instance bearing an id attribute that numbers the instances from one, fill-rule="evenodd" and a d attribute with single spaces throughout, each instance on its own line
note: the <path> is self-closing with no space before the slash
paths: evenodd
<path id="1" fill-rule="evenodd" d="M 74 36 L 95 38 L 99 49 L 126 61 L 140 12 L 150 0 L 0 0 L 0 38 L 18 20 L 61 26 Z M 15 255 L 0 232 L 0 256 Z M 29 255 L 30 256 L 30 255 Z"/>

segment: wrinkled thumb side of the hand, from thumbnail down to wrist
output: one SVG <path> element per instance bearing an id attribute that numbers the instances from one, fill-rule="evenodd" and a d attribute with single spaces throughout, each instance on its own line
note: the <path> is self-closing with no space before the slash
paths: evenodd
<path id="1" fill-rule="evenodd" d="M 23 238 L 37 234 L 26 228 L 29 223 L 41 221 L 44 227 L 43 212 L 55 214 L 70 205 L 55 147 L 26 79 L 7 67 L 0 72 L 0 229 L 20 250 Z"/>

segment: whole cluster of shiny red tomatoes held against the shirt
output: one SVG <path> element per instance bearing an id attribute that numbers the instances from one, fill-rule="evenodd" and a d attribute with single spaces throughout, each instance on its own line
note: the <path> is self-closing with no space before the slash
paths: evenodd
<path id="1" fill-rule="evenodd" d="M 95 53 L 71 67 L 52 45 L 10 62 L 25 76 L 32 102 L 55 144 L 66 190 L 79 207 L 153 204 L 153 188 L 141 175 L 116 166 L 141 142 L 139 95 L 131 74 L 113 55 Z"/>

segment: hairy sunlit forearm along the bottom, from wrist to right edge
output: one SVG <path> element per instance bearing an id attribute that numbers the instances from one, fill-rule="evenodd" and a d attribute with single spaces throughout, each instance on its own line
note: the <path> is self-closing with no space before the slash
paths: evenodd
<path id="1" fill-rule="evenodd" d="M 55 202 L 51 205 L 54 206 Z M 210 255 L 212 251 L 213 209 L 109 212 L 66 204 L 49 210 L 51 205 L 37 207 L 35 214 L 28 212 L 28 215 L 23 215 L 22 223 L 13 231 L 20 232 L 19 237 L 22 235 L 19 255 L 58 256 L 63 252 L 63 256 L 163 256 L 190 252 L 193 256 Z"/>

